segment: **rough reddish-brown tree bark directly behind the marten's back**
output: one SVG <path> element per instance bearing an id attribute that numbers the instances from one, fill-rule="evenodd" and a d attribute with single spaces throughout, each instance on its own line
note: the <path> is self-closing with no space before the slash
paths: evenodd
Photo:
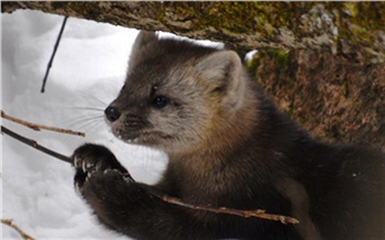
<path id="1" fill-rule="evenodd" d="M 384 64 L 360 65 L 326 50 L 266 50 L 249 69 L 314 137 L 385 151 Z"/>

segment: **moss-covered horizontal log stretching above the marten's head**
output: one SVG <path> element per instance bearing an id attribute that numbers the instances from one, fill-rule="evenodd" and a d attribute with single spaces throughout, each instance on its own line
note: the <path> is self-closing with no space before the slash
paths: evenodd
<path id="1" fill-rule="evenodd" d="M 15 9 L 217 40 L 239 52 L 328 47 L 385 62 L 383 2 L 2 2 L 2 12 Z"/>

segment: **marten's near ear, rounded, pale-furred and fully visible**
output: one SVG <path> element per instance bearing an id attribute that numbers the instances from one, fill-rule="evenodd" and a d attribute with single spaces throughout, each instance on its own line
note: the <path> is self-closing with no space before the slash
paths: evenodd
<path id="1" fill-rule="evenodd" d="M 245 79 L 241 58 L 233 51 L 219 51 L 206 56 L 196 69 L 211 91 L 222 92 L 224 107 L 237 107 L 243 99 Z"/>

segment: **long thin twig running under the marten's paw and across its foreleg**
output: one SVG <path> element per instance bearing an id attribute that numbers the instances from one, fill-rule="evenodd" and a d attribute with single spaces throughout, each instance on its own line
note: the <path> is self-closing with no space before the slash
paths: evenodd
<path id="1" fill-rule="evenodd" d="M 56 159 L 59 159 L 64 162 L 68 162 L 72 163 L 72 159 L 68 156 L 64 156 L 59 153 L 56 153 L 52 150 L 46 149 L 45 146 L 42 146 L 40 144 L 37 144 L 36 141 L 26 139 L 24 137 L 19 135 L 18 133 L 12 132 L 11 130 L 1 127 L 1 132 L 30 145 L 33 146 L 51 156 L 54 156 Z M 123 176 L 130 176 L 129 173 L 123 173 Z M 162 199 L 163 201 L 166 201 L 168 204 L 174 204 L 174 205 L 178 205 L 182 207 L 186 207 L 186 208 L 191 208 L 191 209 L 196 209 L 196 210 L 205 210 L 205 211 L 210 211 L 210 212 L 217 212 L 217 214 L 227 214 L 227 215 L 235 215 L 235 216 L 240 216 L 240 217 L 244 217 L 244 218 L 249 218 L 249 217 L 256 217 L 256 218 L 263 218 L 263 219 L 268 219 L 268 220 L 275 220 L 275 221 L 280 221 L 282 223 L 298 223 L 299 221 L 295 218 L 292 217 L 286 217 L 286 216 L 282 216 L 282 215 L 271 215 L 271 214 L 266 214 L 265 210 L 262 209 L 256 209 L 256 210 L 238 210 L 238 209 L 231 209 L 231 208 L 226 208 L 226 207 L 220 207 L 220 208 L 213 208 L 213 207 L 207 207 L 207 206 L 196 206 L 196 205 L 191 205 L 191 204 L 186 204 L 183 203 L 182 200 L 179 200 L 178 198 L 175 197 L 170 197 L 164 194 L 160 194 L 151 188 L 146 188 L 145 189 L 148 194 Z"/>

